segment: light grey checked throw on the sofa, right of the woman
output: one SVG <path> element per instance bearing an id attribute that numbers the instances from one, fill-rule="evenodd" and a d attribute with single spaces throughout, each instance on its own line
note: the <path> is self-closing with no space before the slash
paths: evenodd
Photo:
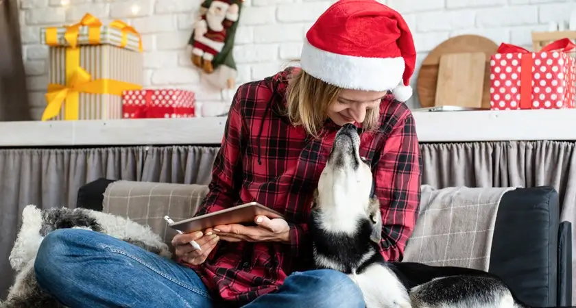
<path id="1" fill-rule="evenodd" d="M 422 185 L 420 214 L 404 261 L 488 270 L 499 204 L 513 189 Z"/>

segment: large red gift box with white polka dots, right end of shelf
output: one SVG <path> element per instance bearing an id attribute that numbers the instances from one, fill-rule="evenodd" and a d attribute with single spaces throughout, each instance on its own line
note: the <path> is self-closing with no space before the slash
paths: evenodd
<path id="1" fill-rule="evenodd" d="M 490 109 L 566 109 L 576 103 L 576 45 L 557 40 L 539 52 L 501 44 L 490 59 Z"/>

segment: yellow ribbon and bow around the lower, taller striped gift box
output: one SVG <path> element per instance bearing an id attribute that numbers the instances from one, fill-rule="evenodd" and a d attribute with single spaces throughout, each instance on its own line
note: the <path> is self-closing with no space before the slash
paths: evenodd
<path id="1" fill-rule="evenodd" d="M 80 93 L 121 96 L 124 90 L 140 90 L 142 88 L 142 86 L 137 84 L 129 84 L 112 79 L 92 80 L 91 75 L 81 67 L 76 68 L 67 84 L 68 86 L 60 84 L 48 85 L 48 93 L 46 94 L 48 104 L 42 114 L 42 120 L 58 116 L 64 101 L 64 120 L 77 120 Z"/>

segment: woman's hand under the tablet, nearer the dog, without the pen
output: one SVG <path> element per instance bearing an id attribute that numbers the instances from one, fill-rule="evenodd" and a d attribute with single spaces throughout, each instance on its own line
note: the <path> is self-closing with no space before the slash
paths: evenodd
<path id="1" fill-rule="evenodd" d="M 290 243 L 290 227 L 286 220 L 280 218 L 269 219 L 266 216 L 254 218 L 256 227 L 242 224 L 226 224 L 214 227 L 214 232 L 220 240 L 227 242 L 283 242 Z"/>

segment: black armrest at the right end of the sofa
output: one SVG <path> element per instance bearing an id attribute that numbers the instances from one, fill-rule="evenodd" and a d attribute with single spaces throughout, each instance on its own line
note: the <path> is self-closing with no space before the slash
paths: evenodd
<path id="1" fill-rule="evenodd" d="M 527 305 L 557 304 L 559 225 L 560 202 L 554 188 L 519 188 L 502 196 L 489 271 Z"/>

